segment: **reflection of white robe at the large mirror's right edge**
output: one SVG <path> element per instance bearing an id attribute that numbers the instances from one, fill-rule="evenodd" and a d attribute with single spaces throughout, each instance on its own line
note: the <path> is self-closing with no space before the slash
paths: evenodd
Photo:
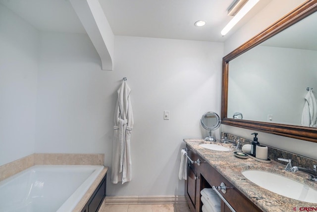
<path id="1" fill-rule="evenodd" d="M 317 100 L 312 90 L 306 94 L 305 100 L 301 123 L 303 126 L 313 127 L 317 124 Z"/>

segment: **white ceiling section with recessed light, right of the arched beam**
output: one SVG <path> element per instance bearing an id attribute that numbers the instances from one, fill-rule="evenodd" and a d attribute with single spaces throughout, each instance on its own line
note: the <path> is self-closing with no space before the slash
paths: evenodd
<path id="1" fill-rule="evenodd" d="M 220 31 L 231 20 L 227 8 L 233 0 L 100 0 L 115 35 L 224 41 Z M 270 0 L 261 0 L 241 20 L 240 27 Z M 205 20 L 196 27 L 197 20 Z M 237 26 L 235 29 L 237 29 Z"/>

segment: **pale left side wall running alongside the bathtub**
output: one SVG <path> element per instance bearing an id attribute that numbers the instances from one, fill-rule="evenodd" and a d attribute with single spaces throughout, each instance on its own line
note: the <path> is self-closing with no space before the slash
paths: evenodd
<path id="1" fill-rule="evenodd" d="M 34 153 L 39 32 L 0 3 L 0 165 Z"/>

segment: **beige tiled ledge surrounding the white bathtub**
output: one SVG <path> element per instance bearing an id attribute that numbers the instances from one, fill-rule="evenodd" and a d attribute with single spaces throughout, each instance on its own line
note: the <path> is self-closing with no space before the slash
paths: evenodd
<path id="1" fill-rule="evenodd" d="M 32 154 L 22 159 L 1 165 L 0 181 L 33 165 L 104 165 L 104 158 L 104 154 Z M 75 207 L 74 212 L 79 212 L 83 209 L 103 177 L 106 175 L 107 170 L 108 167 L 105 167 L 101 171 L 94 183 Z"/>

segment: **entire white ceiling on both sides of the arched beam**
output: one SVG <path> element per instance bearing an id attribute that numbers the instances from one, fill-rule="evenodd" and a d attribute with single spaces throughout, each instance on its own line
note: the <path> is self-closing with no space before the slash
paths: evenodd
<path id="1" fill-rule="evenodd" d="M 114 35 L 224 42 L 271 0 L 260 2 L 226 35 L 233 0 L 99 0 Z M 40 31 L 85 33 L 69 0 L 0 0 Z M 195 21 L 205 20 L 203 27 Z"/>

